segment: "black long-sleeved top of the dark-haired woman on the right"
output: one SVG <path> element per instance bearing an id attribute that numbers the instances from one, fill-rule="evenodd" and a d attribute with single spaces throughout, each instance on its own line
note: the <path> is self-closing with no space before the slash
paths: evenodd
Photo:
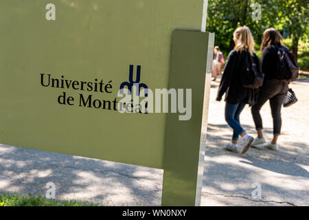
<path id="1" fill-rule="evenodd" d="M 278 46 L 284 47 L 281 44 L 275 45 L 269 45 L 265 47 L 262 53 L 262 59 L 261 59 L 261 67 L 262 72 L 265 74 L 265 79 L 267 80 L 279 80 L 280 78 L 278 76 L 281 75 L 279 70 L 281 69 L 279 65 L 279 56 L 278 56 Z M 287 47 L 285 47 L 286 50 L 288 50 Z"/>

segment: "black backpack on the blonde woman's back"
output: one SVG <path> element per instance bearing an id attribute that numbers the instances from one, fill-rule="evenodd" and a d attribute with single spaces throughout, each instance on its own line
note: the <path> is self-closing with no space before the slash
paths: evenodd
<path id="1" fill-rule="evenodd" d="M 254 63 L 256 65 L 255 70 L 253 69 L 253 61 L 255 61 Z M 246 54 L 240 69 L 240 83 L 242 87 L 258 89 L 262 87 L 263 82 L 264 74 L 261 72 L 258 56 L 254 54 L 254 57 L 252 57 L 249 53 Z"/>

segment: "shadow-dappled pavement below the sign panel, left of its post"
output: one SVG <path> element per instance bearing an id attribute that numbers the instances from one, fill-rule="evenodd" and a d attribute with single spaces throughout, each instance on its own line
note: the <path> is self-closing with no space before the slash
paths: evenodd
<path id="1" fill-rule="evenodd" d="M 163 170 L 0 145 L 0 192 L 45 195 L 104 206 L 159 206 Z"/>

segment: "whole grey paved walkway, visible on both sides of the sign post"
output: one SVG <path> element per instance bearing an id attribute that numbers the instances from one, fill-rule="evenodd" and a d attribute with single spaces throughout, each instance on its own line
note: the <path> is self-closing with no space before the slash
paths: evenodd
<path id="1" fill-rule="evenodd" d="M 218 83 L 211 85 L 211 103 L 202 206 L 309 205 L 309 80 L 293 83 L 299 102 L 282 110 L 280 151 L 251 148 L 245 155 L 223 151 L 231 129 L 224 121 L 224 102 L 214 101 Z M 249 107 L 242 124 L 255 134 Z M 262 109 L 266 138 L 271 140 L 268 104 Z M 56 184 L 56 199 L 78 199 L 105 206 L 159 206 L 163 170 L 118 164 L 15 146 L 0 145 L 0 192 L 45 195 L 47 182 Z M 253 199 L 253 183 L 262 186 Z"/>

